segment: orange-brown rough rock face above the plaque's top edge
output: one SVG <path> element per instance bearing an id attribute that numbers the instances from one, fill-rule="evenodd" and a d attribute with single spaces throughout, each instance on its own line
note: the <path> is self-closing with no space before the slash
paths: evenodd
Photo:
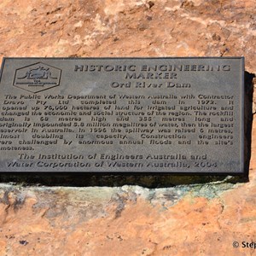
<path id="1" fill-rule="evenodd" d="M 3 56 L 241 56 L 255 73 L 255 2 L 2 0 Z"/>

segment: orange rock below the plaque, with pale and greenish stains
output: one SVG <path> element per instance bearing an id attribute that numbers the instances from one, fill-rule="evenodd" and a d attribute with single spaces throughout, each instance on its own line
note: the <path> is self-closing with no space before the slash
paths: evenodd
<path id="1" fill-rule="evenodd" d="M 252 249 L 234 249 L 232 242 L 253 240 L 255 183 L 253 174 L 242 185 L 226 180 L 169 189 L 3 184 L 1 253 L 242 255 Z"/>

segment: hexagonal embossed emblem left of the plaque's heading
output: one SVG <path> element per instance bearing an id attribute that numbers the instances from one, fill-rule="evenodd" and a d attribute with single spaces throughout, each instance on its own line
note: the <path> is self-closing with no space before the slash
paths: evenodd
<path id="1" fill-rule="evenodd" d="M 14 86 L 22 90 L 37 93 L 59 86 L 61 69 L 38 62 L 15 71 Z"/>

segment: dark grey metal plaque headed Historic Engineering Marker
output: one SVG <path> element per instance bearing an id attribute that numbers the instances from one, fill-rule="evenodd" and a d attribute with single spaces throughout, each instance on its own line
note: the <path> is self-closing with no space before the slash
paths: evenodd
<path id="1" fill-rule="evenodd" d="M 5 58 L 0 172 L 244 173 L 244 60 Z"/>

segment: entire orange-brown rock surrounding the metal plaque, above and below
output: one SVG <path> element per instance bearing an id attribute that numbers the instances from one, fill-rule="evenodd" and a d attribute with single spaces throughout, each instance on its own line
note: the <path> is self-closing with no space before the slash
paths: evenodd
<path id="1" fill-rule="evenodd" d="M 0 57 L 244 55 L 255 74 L 255 17 L 253 0 L 1 0 Z M 1 183 L 0 255 L 256 255 L 255 137 L 248 183 Z"/>

